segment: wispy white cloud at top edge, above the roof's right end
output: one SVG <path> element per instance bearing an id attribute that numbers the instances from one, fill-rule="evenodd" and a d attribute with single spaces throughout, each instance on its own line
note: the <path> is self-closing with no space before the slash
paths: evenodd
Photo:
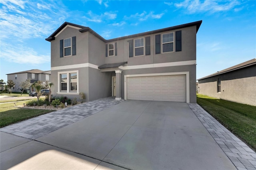
<path id="1" fill-rule="evenodd" d="M 217 0 L 185 0 L 180 3 L 175 3 L 174 6 L 177 8 L 185 8 L 189 13 L 196 12 L 221 12 L 228 11 L 239 5 L 240 2 L 237 0 L 231 1 L 217 1 Z"/>

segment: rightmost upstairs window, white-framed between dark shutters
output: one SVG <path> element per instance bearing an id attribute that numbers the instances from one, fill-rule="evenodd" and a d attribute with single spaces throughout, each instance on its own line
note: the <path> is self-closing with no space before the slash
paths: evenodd
<path id="1" fill-rule="evenodd" d="M 162 52 L 173 52 L 174 49 L 174 36 L 173 32 L 162 34 Z"/>

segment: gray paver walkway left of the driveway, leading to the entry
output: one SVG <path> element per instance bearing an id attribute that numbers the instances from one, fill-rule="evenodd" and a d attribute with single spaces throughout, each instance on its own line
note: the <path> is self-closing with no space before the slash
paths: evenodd
<path id="1" fill-rule="evenodd" d="M 124 99 L 117 101 L 113 97 L 97 99 L 9 125 L 0 128 L 0 131 L 24 138 L 36 139 L 122 101 Z"/>

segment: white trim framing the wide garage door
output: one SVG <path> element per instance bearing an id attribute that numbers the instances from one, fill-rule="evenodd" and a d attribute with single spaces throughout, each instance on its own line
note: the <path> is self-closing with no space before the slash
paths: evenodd
<path id="1" fill-rule="evenodd" d="M 186 75 L 186 103 L 190 103 L 189 93 L 189 71 L 173 72 L 173 73 L 152 73 L 152 74 L 132 74 L 124 75 L 124 99 L 127 100 L 126 77 L 142 77 L 142 76 L 158 76 L 158 75 Z"/>

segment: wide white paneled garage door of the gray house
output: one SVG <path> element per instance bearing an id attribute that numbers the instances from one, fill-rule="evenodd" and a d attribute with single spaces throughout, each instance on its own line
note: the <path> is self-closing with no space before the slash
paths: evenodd
<path id="1" fill-rule="evenodd" d="M 186 75 L 127 77 L 127 98 L 186 102 Z"/>

